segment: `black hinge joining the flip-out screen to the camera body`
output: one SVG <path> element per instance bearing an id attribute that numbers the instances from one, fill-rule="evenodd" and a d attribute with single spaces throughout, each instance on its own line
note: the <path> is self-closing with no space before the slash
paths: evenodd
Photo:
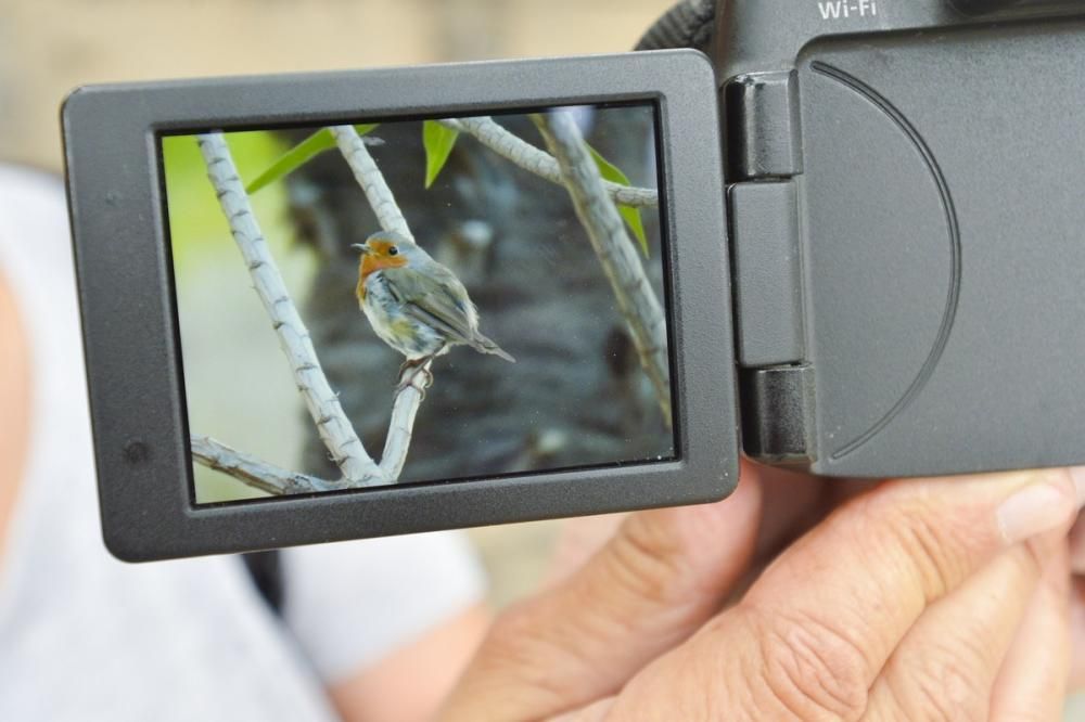
<path id="1" fill-rule="evenodd" d="M 806 352 L 796 77 L 739 76 L 726 86 L 727 191 L 745 452 L 808 464 L 814 370 Z"/>

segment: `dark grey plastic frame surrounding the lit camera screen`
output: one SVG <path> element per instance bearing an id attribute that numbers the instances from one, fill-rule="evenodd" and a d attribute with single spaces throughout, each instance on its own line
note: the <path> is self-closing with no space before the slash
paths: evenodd
<path id="1" fill-rule="evenodd" d="M 716 98 L 710 62 L 689 50 L 73 92 L 62 120 L 108 549 L 161 559 L 726 497 L 738 411 Z M 161 136 L 630 102 L 655 105 L 660 134 L 674 461 L 194 503 Z"/>

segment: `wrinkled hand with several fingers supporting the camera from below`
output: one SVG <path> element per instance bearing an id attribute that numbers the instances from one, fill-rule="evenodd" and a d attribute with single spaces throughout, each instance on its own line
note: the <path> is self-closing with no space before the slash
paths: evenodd
<path id="1" fill-rule="evenodd" d="M 723 613 L 760 484 L 633 515 L 502 615 L 443 719 L 1058 719 L 1075 486 L 1065 472 L 881 485 Z"/>

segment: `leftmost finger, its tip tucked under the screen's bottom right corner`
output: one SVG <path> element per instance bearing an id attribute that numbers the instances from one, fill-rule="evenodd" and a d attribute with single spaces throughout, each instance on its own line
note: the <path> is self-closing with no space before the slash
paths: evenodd
<path id="1" fill-rule="evenodd" d="M 718 610 L 760 507 L 744 479 L 717 504 L 630 515 L 579 571 L 498 618 L 442 719 L 545 718 L 614 694 Z"/>

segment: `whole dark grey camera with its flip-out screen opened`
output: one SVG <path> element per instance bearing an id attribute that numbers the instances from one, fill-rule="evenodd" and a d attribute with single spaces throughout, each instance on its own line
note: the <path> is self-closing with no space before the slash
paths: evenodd
<path id="1" fill-rule="evenodd" d="M 1085 461 L 1085 9 L 685 3 L 654 38 L 711 60 L 74 91 L 111 551 L 707 502 L 740 449 Z"/>

